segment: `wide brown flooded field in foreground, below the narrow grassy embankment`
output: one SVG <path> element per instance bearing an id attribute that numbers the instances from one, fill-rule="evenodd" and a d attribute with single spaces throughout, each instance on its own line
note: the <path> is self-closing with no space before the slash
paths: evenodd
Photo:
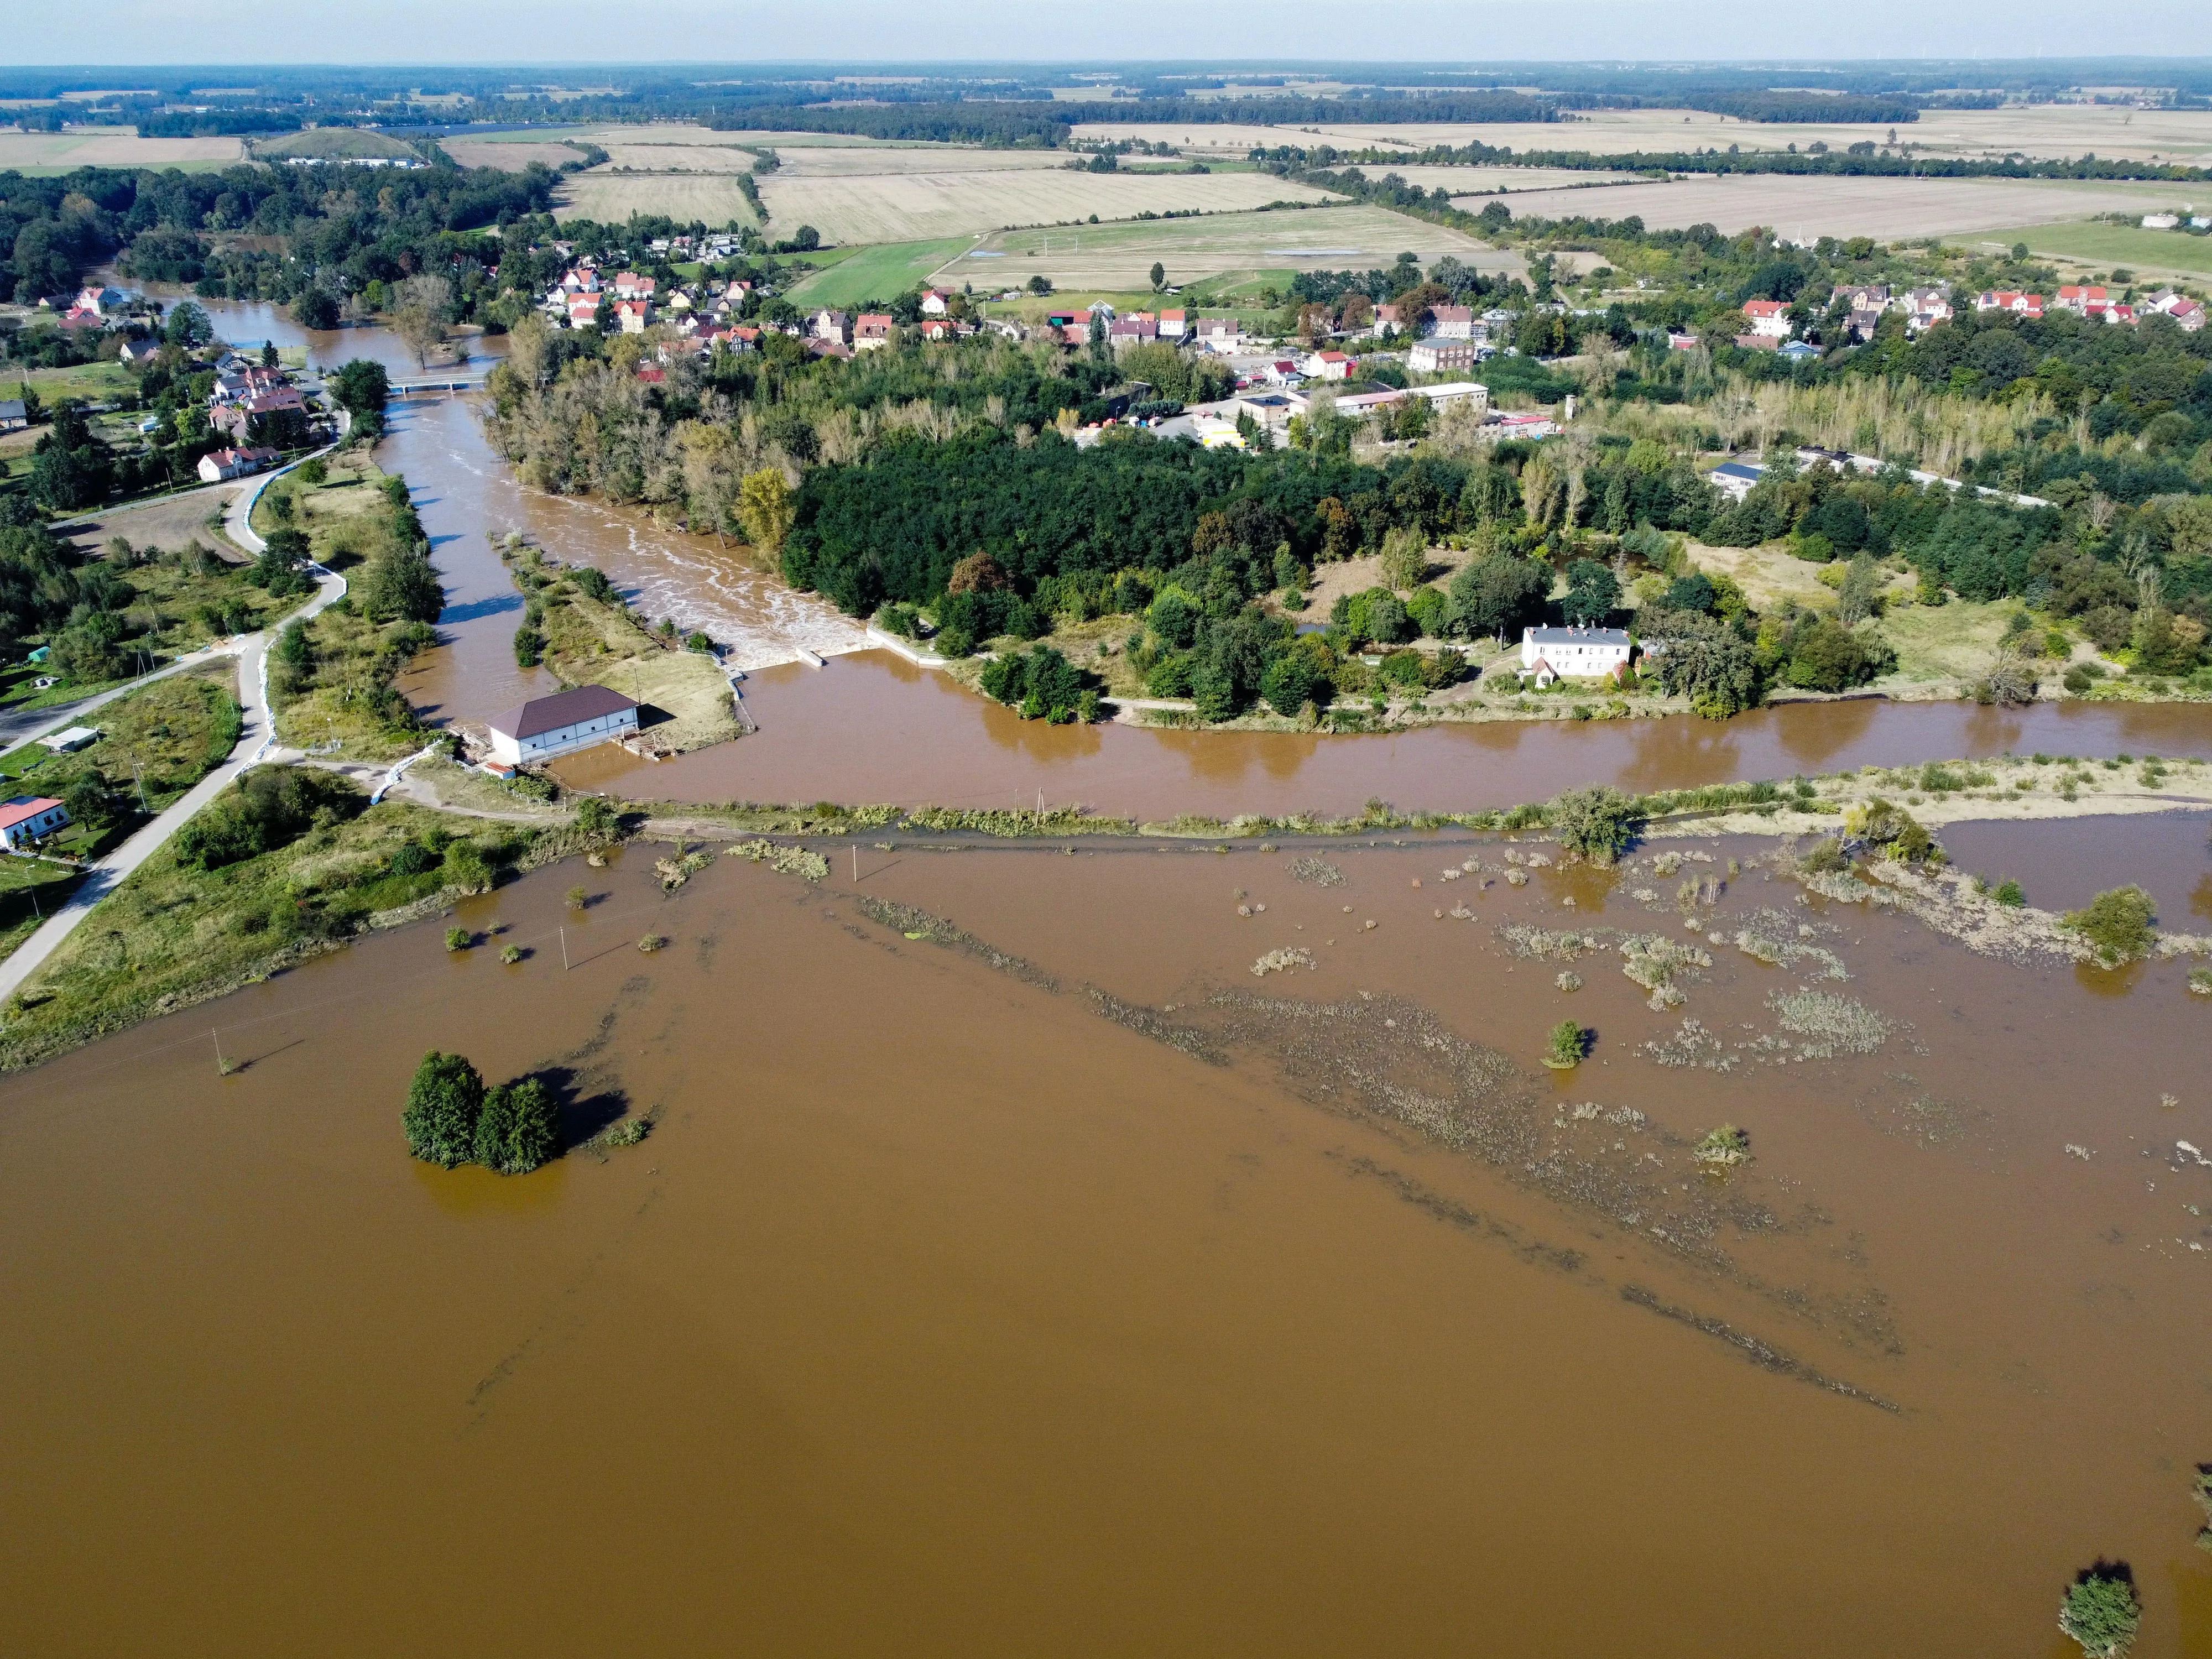
<path id="1" fill-rule="evenodd" d="M 1756 843 L 825 852 L 542 872 L 460 914 L 518 967 L 422 925 L 0 1086 L 4 1646 L 2055 1659 L 2097 1555 L 2212 1644 L 2179 964 Z M 429 1046 L 653 1133 L 411 1164 Z"/>

